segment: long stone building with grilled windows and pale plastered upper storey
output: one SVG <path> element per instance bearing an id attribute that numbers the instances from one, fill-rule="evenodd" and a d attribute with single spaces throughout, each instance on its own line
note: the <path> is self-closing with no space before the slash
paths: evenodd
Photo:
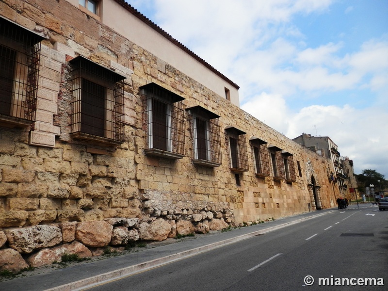
<path id="1" fill-rule="evenodd" d="M 88 2 L 0 2 L 0 257 L 39 266 L 336 205 L 334 143 L 328 160 L 291 141 L 125 1 Z"/>

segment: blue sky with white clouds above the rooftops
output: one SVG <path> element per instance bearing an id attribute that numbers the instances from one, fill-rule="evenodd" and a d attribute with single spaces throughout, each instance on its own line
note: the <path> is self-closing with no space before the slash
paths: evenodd
<path id="1" fill-rule="evenodd" d="M 388 179 L 388 0 L 127 0 L 292 139 L 328 136 Z"/>

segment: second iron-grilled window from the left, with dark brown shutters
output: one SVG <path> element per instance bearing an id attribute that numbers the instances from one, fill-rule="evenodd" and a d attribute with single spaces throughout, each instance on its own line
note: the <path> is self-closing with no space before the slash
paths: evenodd
<path id="1" fill-rule="evenodd" d="M 126 77 L 81 56 L 70 64 L 72 136 L 110 145 L 123 143 Z"/>

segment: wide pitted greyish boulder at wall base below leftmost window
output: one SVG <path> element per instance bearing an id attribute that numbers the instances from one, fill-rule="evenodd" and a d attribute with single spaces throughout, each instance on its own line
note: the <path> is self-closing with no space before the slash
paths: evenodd
<path id="1" fill-rule="evenodd" d="M 30 226 L 4 231 L 8 244 L 19 253 L 32 253 L 36 249 L 54 246 L 62 242 L 61 229 L 57 226 Z"/>

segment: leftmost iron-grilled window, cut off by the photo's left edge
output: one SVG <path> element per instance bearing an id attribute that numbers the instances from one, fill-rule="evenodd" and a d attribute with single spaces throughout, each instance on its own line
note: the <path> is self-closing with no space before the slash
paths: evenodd
<path id="1" fill-rule="evenodd" d="M 0 121 L 35 121 L 41 41 L 44 38 L 0 17 Z"/>

